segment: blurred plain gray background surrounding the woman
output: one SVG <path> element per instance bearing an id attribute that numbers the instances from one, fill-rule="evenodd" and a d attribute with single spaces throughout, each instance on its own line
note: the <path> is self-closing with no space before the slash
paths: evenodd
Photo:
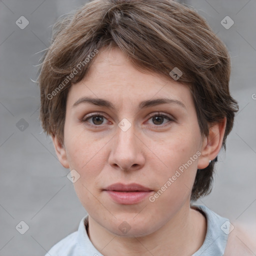
<path id="1" fill-rule="evenodd" d="M 0 256 L 44 255 L 75 231 L 86 213 L 66 178 L 68 170 L 42 133 L 39 89 L 31 81 L 36 79 L 34 65 L 42 55 L 35 53 L 49 46 L 51 25 L 85 2 L 0 1 Z M 230 91 L 240 107 L 227 151 L 221 149 L 218 157 L 214 188 L 197 203 L 234 225 L 242 224 L 256 239 L 256 0 L 185 2 L 207 19 L 227 45 L 232 62 Z M 15 24 L 21 15 L 29 21 L 24 29 Z M 220 23 L 226 15 L 234 21 L 229 29 Z M 28 124 L 23 131 L 22 124 Z M 23 235 L 15 229 L 21 220 L 29 226 Z"/>

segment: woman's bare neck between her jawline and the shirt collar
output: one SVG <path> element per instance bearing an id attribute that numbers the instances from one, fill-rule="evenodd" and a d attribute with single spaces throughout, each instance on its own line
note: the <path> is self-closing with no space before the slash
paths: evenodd
<path id="1" fill-rule="evenodd" d="M 206 219 L 190 208 L 190 201 L 159 229 L 145 236 L 117 236 L 88 216 L 88 236 L 105 256 L 188 256 L 197 251 L 206 235 Z"/>

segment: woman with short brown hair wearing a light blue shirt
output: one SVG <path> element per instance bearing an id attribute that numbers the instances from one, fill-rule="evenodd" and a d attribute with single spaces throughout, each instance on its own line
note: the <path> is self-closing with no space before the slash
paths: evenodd
<path id="1" fill-rule="evenodd" d="M 171 0 L 94 0 L 60 19 L 40 119 L 87 211 L 50 255 L 250 255 L 210 192 L 238 110 L 226 47 Z M 253 255 L 253 254 L 251 254 Z"/>

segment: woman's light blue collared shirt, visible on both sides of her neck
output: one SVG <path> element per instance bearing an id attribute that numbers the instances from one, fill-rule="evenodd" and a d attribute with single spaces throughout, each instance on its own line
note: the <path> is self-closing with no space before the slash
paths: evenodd
<path id="1" fill-rule="evenodd" d="M 204 205 L 191 204 L 191 206 L 201 210 L 207 221 L 204 242 L 191 256 L 222 256 L 228 237 L 229 220 Z M 85 229 L 87 223 L 88 215 L 81 219 L 77 231 L 57 242 L 45 256 L 103 256 L 87 235 Z"/>

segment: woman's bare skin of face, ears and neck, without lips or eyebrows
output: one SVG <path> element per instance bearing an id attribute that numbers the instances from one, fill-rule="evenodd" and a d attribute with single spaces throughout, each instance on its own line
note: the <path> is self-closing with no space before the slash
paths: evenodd
<path id="1" fill-rule="evenodd" d="M 116 109 L 89 103 L 73 106 L 84 96 L 107 99 Z M 179 100 L 185 108 L 138 107 L 142 100 L 161 97 Z M 172 120 L 157 122 L 149 116 L 159 116 L 158 111 Z M 89 113 L 103 117 L 82 121 Z M 131 124 L 126 131 L 118 127 L 123 118 Z M 106 256 L 191 255 L 198 250 L 206 220 L 190 208 L 191 189 L 197 168 L 205 168 L 218 154 L 225 125 L 226 118 L 202 136 L 186 85 L 137 70 L 118 48 L 100 50 L 87 76 L 68 92 L 63 145 L 52 135 L 61 164 L 80 175 L 74 188 L 88 212 L 93 245 Z M 135 182 L 152 189 L 153 195 L 196 151 L 200 156 L 154 202 L 145 198 L 124 205 L 102 190 L 115 182 Z M 118 228 L 123 221 L 130 227 L 127 233 Z"/>

